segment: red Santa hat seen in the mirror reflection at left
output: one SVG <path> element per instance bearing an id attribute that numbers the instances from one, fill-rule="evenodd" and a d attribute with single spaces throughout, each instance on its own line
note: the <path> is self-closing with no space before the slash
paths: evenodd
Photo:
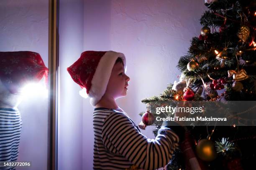
<path id="1" fill-rule="evenodd" d="M 0 52 L 0 79 L 10 93 L 17 93 L 28 82 L 39 82 L 48 68 L 41 56 L 31 51 Z"/>

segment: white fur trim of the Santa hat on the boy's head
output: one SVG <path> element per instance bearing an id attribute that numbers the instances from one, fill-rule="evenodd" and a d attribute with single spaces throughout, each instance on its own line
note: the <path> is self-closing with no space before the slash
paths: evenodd
<path id="1" fill-rule="evenodd" d="M 122 58 L 126 72 L 126 60 L 123 53 L 108 51 L 101 57 L 92 77 L 92 86 L 88 94 L 91 97 L 90 103 L 92 106 L 95 106 L 105 94 L 112 69 L 118 57 Z"/>

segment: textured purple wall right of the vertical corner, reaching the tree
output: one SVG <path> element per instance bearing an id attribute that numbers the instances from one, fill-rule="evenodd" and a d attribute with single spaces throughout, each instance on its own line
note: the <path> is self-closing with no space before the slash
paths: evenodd
<path id="1" fill-rule="evenodd" d="M 84 51 L 115 50 L 127 57 L 128 94 L 120 107 L 136 122 L 146 111 L 141 99 L 159 95 L 178 80 L 176 65 L 189 40 L 200 34 L 203 0 L 85 0 Z M 84 100 L 84 167 L 92 166 L 92 106 Z M 154 138 L 152 128 L 142 130 Z M 91 169 L 91 168 L 84 168 Z"/>

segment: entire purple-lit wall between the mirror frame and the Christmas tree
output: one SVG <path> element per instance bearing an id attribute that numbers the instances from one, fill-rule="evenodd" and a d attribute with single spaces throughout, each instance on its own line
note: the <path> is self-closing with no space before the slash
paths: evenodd
<path id="1" fill-rule="evenodd" d="M 73 2 L 73 1 L 72 1 Z M 159 95 L 178 80 L 176 65 L 189 40 L 200 34 L 200 16 L 207 8 L 198 0 L 71 0 L 60 1 L 60 138 L 59 167 L 78 163 L 92 170 L 93 107 L 82 99 L 65 70 L 81 52 L 114 50 L 127 58 L 131 78 L 128 95 L 118 104 L 138 124 L 145 97 Z M 62 132 L 61 132 L 62 130 Z M 154 138 L 153 127 L 141 130 Z M 65 132 L 64 132 L 65 131 Z M 69 161 L 69 162 L 66 162 Z M 77 167 L 78 168 L 78 167 Z"/>

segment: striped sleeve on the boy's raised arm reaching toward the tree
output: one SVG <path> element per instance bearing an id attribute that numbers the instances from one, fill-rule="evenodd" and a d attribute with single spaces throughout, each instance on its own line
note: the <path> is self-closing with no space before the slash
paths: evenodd
<path id="1" fill-rule="evenodd" d="M 102 127 L 102 140 L 111 152 L 114 149 L 131 163 L 145 170 L 164 167 L 179 146 L 179 137 L 162 127 L 155 139 L 147 139 L 123 113 L 113 112 Z"/>

